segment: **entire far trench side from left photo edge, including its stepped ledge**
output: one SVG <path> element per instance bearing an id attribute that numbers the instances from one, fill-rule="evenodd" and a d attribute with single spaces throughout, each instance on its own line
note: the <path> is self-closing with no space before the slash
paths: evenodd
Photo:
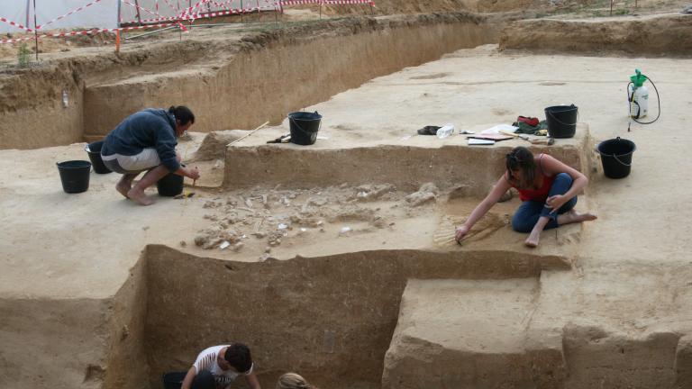
<path id="1" fill-rule="evenodd" d="M 193 109 L 195 131 L 251 129 L 497 34 L 467 13 L 361 17 L 55 59 L 0 73 L 0 149 L 103 137 L 141 108 L 171 104 Z"/>

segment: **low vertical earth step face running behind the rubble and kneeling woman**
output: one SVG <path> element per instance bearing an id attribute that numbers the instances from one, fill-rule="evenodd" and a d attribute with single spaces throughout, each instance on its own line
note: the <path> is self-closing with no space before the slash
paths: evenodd
<path id="1" fill-rule="evenodd" d="M 532 146 L 534 153 L 548 152 L 579 171 L 592 171 L 593 140 L 586 124 L 578 125 L 578 137 L 560 147 Z M 565 140 L 560 140 L 565 142 Z M 528 145 L 528 144 L 526 144 Z M 525 146 L 525 145 L 522 145 Z M 490 185 L 505 171 L 505 154 L 512 147 L 469 148 L 443 146 L 423 148 L 378 146 L 351 149 L 315 149 L 287 145 L 235 147 L 226 152 L 223 186 L 250 187 L 272 182 L 285 187 L 353 185 L 387 182 L 414 190 L 432 182 L 440 188 L 461 186 L 460 195 L 487 195 Z M 247 161 L 252 164 L 248 165 Z M 367 172 L 367 174 L 366 174 Z"/>

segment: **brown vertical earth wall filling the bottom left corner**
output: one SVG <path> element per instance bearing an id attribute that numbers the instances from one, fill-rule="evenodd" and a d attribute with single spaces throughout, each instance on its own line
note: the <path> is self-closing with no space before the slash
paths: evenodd
<path id="1" fill-rule="evenodd" d="M 0 300 L 0 387 L 80 388 L 101 382 L 110 338 L 107 311 L 104 300 Z"/>

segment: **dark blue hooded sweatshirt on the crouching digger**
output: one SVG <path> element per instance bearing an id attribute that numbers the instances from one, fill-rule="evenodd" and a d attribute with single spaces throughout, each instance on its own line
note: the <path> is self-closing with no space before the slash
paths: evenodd
<path id="1" fill-rule="evenodd" d="M 101 155 L 133 156 L 142 149 L 156 149 L 161 164 L 175 172 L 180 168 L 176 159 L 176 117 L 163 109 L 145 109 L 118 124 L 105 137 Z"/>

